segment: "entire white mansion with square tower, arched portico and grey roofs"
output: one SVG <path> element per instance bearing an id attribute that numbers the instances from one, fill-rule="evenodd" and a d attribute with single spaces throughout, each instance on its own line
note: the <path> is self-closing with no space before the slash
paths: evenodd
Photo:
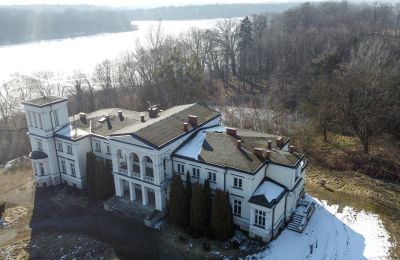
<path id="1" fill-rule="evenodd" d="M 68 117 L 67 99 L 23 103 L 39 187 L 85 186 L 86 154 L 112 163 L 115 195 L 166 209 L 173 173 L 210 180 L 228 191 L 234 223 L 269 241 L 290 220 L 304 193 L 307 161 L 289 139 L 221 125 L 221 114 L 199 104 L 146 112 L 117 108 Z"/>

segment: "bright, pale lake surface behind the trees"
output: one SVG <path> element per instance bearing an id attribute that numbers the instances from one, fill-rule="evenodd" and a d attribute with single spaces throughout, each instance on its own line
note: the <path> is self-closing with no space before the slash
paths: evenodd
<path id="1" fill-rule="evenodd" d="M 218 20 L 222 19 L 162 21 L 161 24 L 166 34 L 178 35 L 191 27 L 211 28 Z M 74 70 L 81 70 L 90 73 L 102 60 L 134 50 L 137 40 L 145 45 L 148 30 L 158 23 L 132 21 L 138 26 L 137 31 L 0 46 L 0 82 L 15 72 L 30 74 L 49 70 L 69 75 Z"/>

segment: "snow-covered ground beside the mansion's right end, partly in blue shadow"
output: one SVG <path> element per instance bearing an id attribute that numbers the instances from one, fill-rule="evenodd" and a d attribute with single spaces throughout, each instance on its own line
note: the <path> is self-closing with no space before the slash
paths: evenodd
<path id="1" fill-rule="evenodd" d="M 253 257 L 263 259 L 390 259 L 393 246 L 379 216 L 351 207 L 339 209 L 326 201 L 316 208 L 302 234 L 285 229 L 269 248 Z"/>

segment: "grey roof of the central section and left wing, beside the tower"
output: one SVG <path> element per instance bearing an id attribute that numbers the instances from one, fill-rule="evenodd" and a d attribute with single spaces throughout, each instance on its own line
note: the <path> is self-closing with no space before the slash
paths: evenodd
<path id="1" fill-rule="evenodd" d="M 118 111 L 122 111 L 123 120 L 118 117 Z M 201 125 L 219 114 L 219 112 L 199 104 L 175 106 L 159 112 L 156 118 L 150 118 L 148 112 L 109 108 L 86 114 L 86 122 L 80 120 L 79 114 L 70 117 L 70 122 L 73 127 L 88 133 L 104 137 L 133 135 L 160 147 L 186 133 L 183 123 L 187 122 L 188 115 L 197 116 L 197 125 Z M 110 126 L 106 122 L 99 122 L 105 115 L 110 117 Z M 141 122 L 141 115 L 145 116 L 145 122 Z M 196 126 L 189 124 L 188 130 L 190 131 L 194 127 Z"/>

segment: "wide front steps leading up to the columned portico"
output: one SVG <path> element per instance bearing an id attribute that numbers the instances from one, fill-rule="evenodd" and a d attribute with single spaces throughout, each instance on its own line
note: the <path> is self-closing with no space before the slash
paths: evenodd
<path id="1" fill-rule="evenodd" d="M 126 202 L 115 198 L 111 202 L 111 210 L 128 218 L 143 222 L 154 210 L 139 205 L 139 203 Z"/>

